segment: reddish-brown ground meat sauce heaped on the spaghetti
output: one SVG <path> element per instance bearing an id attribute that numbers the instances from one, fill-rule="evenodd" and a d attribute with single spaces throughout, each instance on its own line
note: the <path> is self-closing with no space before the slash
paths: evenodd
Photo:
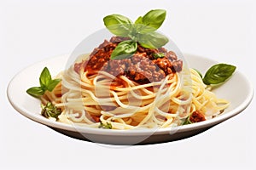
<path id="1" fill-rule="evenodd" d="M 134 82 L 140 84 L 148 82 L 159 82 L 175 72 L 182 71 L 183 61 L 177 59 L 177 55 L 166 48 L 149 49 L 138 44 L 137 52 L 129 59 L 110 59 L 113 49 L 119 42 L 128 38 L 112 37 L 108 42 L 93 50 L 90 59 L 84 63 L 74 65 L 74 70 L 79 72 L 83 66 L 84 71 L 90 73 L 96 71 L 107 71 L 115 77 L 126 76 Z M 163 53 L 164 57 L 155 59 L 154 54 Z"/>

